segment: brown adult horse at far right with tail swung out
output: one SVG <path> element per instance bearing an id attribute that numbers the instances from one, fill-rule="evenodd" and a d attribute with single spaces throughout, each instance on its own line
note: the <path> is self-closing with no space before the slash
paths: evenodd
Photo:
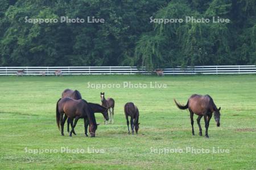
<path id="1" fill-rule="evenodd" d="M 217 108 L 216 105 L 213 102 L 212 97 L 209 95 L 201 96 L 201 95 L 192 95 L 189 97 L 188 102 L 186 105 L 180 105 L 177 103 L 177 101 L 174 99 L 175 104 L 179 109 L 188 109 L 190 112 L 190 118 L 191 118 L 191 126 L 192 126 L 192 134 L 195 135 L 194 132 L 194 121 L 193 121 L 193 114 L 197 114 L 197 124 L 199 126 L 199 135 L 202 135 L 202 128 L 200 125 L 200 120 L 204 116 L 204 122 L 205 122 L 205 137 L 209 138 L 208 136 L 208 128 L 209 128 L 209 122 L 210 118 L 212 118 L 212 113 L 214 113 L 214 119 L 217 122 L 217 126 L 220 126 L 220 109 Z"/>

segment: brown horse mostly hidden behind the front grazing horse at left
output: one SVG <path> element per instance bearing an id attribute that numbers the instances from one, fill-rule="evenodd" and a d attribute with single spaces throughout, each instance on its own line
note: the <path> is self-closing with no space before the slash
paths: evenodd
<path id="1" fill-rule="evenodd" d="M 79 91 L 77 90 L 73 91 L 71 89 L 66 89 L 62 92 L 61 98 L 64 98 L 64 97 L 71 97 L 74 100 L 82 99 L 82 95 L 80 94 Z M 102 113 L 105 120 L 109 120 L 109 114 L 108 114 L 107 108 L 102 107 L 99 104 L 94 104 L 94 103 L 88 103 L 88 104 L 94 113 Z M 69 124 L 71 124 L 70 118 L 68 118 L 67 123 L 68 123 L 68 132 L 69 132 Z M 88 134 L 87 134 L 88 120 L 86 118 L 84 118 L 84 128 L 85 128 L 85 135 L 86 137 L 88 137 Z M 76 135 L 75 131 L 73 131 L 73 134 Z"/>

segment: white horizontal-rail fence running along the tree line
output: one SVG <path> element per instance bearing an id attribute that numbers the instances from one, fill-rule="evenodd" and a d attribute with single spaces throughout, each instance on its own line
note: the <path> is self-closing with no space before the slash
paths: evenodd
<path id="1" fill-rule="evenodd" d="M 144 69 L 129 66 L 102 66 L 102 67 L 0 67 L 0 75 L 16 75 L 17 71 L 24 70 L 23 75 L 54 75 L 61 70 L 63 75 L 82 74 L 150 74 Z M 256 74 L 256 66 L 195 66 L 164 69 L 164 74 Z"/>

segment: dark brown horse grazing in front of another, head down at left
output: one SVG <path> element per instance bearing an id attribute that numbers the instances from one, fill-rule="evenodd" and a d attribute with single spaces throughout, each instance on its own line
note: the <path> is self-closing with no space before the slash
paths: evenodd
<path id="1" fill-rule="evenodd" d="M 64 118 L 63 115 L 65 114 Z M 90 108 L 87 101 L 80 99 L 80 100 L 74 100 L 70 97 L 65 97 L 63 99 L 59 99 L 56 104 L 56 122 L 57 126 L 60 129 L 61 125 L 61 135 L 64 135 L 63 129 L 64 124 L 67 118 L 71 118 L 71 127 L 72 130 L 69 133 L 69 136 L 72 137 L 73 130 L 76 127 L 77 121 L 80 118 L 86 118 L 88 119 L 88 122 L 90 124 L 90 137 L 95 137 L 96 130 L 98 124 L 96 123 L 96 118 L 94 116 L 94 113 L 92 109 Z M 73 124 L 73 119 L 75 118 L 75 122 Z"/>

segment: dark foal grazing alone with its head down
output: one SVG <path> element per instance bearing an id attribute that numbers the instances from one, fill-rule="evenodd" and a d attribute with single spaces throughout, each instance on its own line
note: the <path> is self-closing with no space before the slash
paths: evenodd
<path id="1" fill-rule="evenodd" d="M 131 133 L 134 134 L 134 125 L 135 125 L 135 131 L 136 134 L 138 134 L 139 130 L 139 109 L 131 102 L 125 104 L 125 117 L 126 117 L 126 122 L 128 126 L 128 131 L 130 134 L 130 129 L 129 129 L 129 120 L 128 116 L 131 117 Z"/>

